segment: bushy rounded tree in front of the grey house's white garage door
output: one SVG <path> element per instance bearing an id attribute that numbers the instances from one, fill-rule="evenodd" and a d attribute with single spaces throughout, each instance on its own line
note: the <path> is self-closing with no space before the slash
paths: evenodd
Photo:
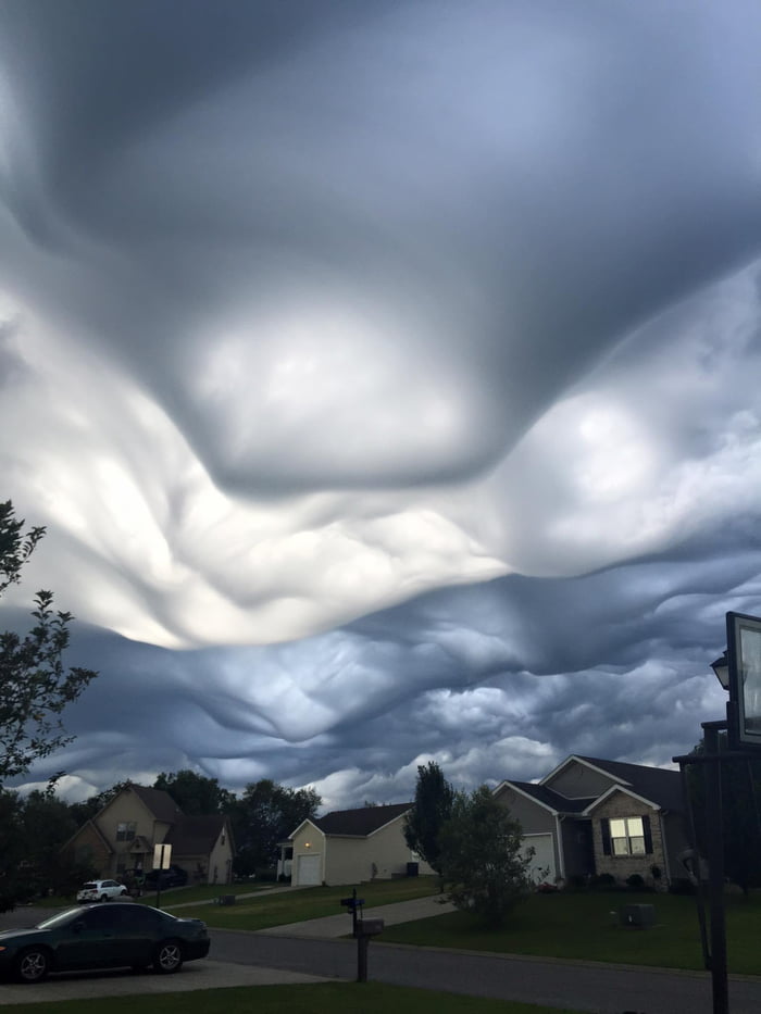
<path id="1" fill-rule="evenodd" d="M 449 819 L 441 828 L 441 875 L 449 900 L 501 926 L 508 912 L 531 890 L 531 852 L 522 853 L 521 825 L 507 806 L 481 786 L 471 794 L 458 792 Z"/>

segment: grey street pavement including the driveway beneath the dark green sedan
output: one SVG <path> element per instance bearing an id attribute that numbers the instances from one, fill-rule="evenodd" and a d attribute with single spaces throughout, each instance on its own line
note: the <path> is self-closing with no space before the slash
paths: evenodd
<path id="1" fill-rule="evenodd" d="M 0 917 L 0 928 L 33 925 L 45 913 L 16 910 Z M 4 924 L 4 926 L 3 926 Z M 357 978 L 353 940 L 210 930 L 211 955 L 190 962 L 178 975 L 93 973 L 65 976 L 39 986 L 0 986 L 0 1007 L 9 1003 L 52 1002 L 76 997 L 155 994 L 167 991 Z M 711 980 L 706 973 L 666 972 L 632 966 L 492 956 L 408 948 L 374 940 L 369 978 L 400 986 L 567 1006 L 595 1014 L 711 1014 Z M 732 1014 L 761 1012 L 761 978 L 732 977 Z"/>

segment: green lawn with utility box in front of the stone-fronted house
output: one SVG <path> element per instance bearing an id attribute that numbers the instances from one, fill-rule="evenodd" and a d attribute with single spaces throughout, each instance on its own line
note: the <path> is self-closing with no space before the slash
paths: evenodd
<path id="1" fill-rule="evenodd" d="M 620 925 L 617 910 L 625 904 L 654 905 L 656 925 L 648 929 Z M 761 975 L 761 897 L 746 901 L 727 896 L 726 925 L 729 972 Z M 703 967 L 695 899 L 672 894 L 533 894 L 513 910 L 500 930 L 484 929 L 473 916 L 452 912 L 389 926 L 380 939 L 663 968 Z"/>

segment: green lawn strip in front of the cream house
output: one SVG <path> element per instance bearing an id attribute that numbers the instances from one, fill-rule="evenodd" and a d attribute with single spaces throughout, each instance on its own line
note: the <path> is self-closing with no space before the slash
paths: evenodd
<path id="1" fill-rule="evenodd" d="M 387 905 L 397 901 L 409 901 L 438 893 L 435 877 L 404 877 L 398 880 L 373 880 L 358 886 L 357 893 L 364 898 L 365 906 Z M 295 891 L 267 893 L 246 898 L 235 905 L 194 905 L 177 909 L 176 914 L 188 918 L 203 919 L 217 929 L 267 929 L 302 919 L 316 919 L 324 915 L 340 915 L 340 899 L 351 894 L 351 887 L 305 887 Z M 149 900 L 149 899 L 148 899 Z M 172 912 L 169 899 L 162 903 Z M 350 932 L 347 916 L 347 932 Z"/>

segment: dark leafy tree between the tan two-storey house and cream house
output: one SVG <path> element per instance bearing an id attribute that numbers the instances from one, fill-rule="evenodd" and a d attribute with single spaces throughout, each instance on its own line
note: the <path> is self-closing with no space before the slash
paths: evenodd
<path id="1" fill-rule="evenodd" d="M 272 867 L 277 843 L 322 806 L 314 789 L 290 789 L 270 778 L 246 786 L 229 811 L 235 836 L 235 872 L 249 876 Z"/>

